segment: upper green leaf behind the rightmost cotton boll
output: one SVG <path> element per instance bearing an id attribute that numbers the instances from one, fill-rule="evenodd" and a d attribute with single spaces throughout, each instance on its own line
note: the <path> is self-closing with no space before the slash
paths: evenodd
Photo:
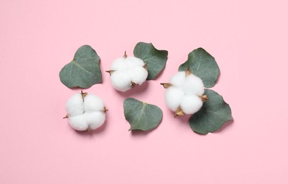
<path id="1" fill-rule="evenodd" d="M 211 88 L 216 84 L 220 69 L 213 56 L 203 48 L 193 50 L 188 54 L 188 60 L 180 65 L 178 71 L 190 71 L 200 77 L 206 88 Z"/>

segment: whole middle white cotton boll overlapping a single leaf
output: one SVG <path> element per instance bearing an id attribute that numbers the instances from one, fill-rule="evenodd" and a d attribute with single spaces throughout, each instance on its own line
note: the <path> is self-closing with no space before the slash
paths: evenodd
<path id="1" fill-rule="evenodd" d="M 123 57 L 112 62 L 110 71 L 107 72 L 110 73 L 112 86 L 122 92 L 143 84 L 148 76 L 143 60 L 137 57 L 127 57 L 126 52 Z"/>

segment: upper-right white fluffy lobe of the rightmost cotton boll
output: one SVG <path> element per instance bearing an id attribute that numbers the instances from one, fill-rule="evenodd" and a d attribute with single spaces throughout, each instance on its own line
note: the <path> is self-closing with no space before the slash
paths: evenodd
<path id="1" fill-rule="evenodd" d="M 186 95 L 203 96 L 203 81 L 198 76 L 190 74 L 186 76 L 186 80 L 183 85 L 183 91 Z"/>

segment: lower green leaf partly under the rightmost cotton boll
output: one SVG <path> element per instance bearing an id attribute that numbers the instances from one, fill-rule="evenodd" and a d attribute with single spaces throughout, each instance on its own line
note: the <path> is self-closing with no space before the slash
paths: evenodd
<path id="1" fill-rule="evenodd" d="M 225 103 L 222 96 L 210 89 L 206 89 L 204 94 L 209 100 L 204 102 L 201 110 L 189 119 L 190 127 L 199 134 L 214 132 L 228 120 L 233 120 L 230 106 Z"/>

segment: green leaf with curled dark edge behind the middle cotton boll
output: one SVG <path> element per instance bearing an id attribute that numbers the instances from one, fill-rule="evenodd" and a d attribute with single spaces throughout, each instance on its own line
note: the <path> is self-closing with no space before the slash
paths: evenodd
<path id="1" fill-rule="evenodd" d="M 156 50 L 151 43 L 139 42 L 134 48 L 134 57 L 142 59 L 147 64 L 147 80 L 154 79 L 165 68 L 167 56 L 168 51 Z"/>

